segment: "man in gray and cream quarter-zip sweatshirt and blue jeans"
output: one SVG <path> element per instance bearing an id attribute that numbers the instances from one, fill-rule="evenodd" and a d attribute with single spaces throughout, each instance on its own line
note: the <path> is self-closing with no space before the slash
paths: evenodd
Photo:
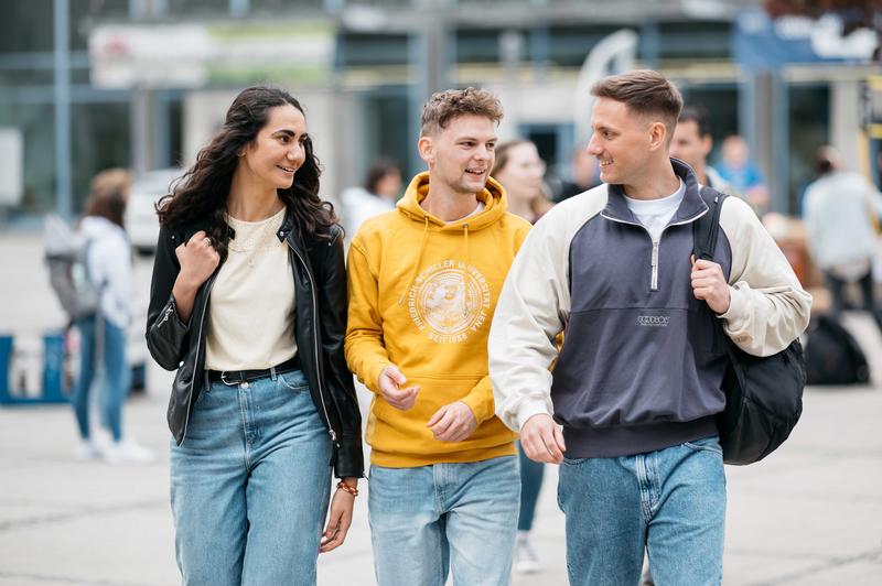
<path id="1" fill-rule="evenodd" d="M 723 336 L 778 352 L 805 329 L 811 297 L 735 197 L 713 261 L 692 262 L 708 206 L 668 156 L 674 85 L 636 70 L 592 94 L 588 151 L 604 183 L 546 214 L 512 265 L 490 335 L 496 414 L 527 456 L 561 463 L 571 585 L 636 585 L 645 551 L 658 584 L 719 584 Z"/>

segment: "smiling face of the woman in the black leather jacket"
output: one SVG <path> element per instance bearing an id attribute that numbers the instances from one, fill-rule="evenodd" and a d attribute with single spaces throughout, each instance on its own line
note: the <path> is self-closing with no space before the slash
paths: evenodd
<path id="1" fill-rule="evenodd" d="M 267 123 L 239 156 L 237 173 L 262 187 L 288 189 L 306 158 L 306 119 L 290 104 L 267 110 Z"/>

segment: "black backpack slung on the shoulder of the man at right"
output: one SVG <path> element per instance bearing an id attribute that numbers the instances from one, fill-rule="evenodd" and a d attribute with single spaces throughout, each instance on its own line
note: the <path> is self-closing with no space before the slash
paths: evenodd
<path id="1" fill-rule="evenodd" d="M 692 225 L 695 256 L 713 260 L 725 195 L 701 187 L 710 210 Z M 722 329 L 722 324 L 719 325 Z M 760 462 L 787 440 L 803 413 L 806 366 L 803 346 L 795 339 L 767 357 L 751 356 L 721 332 L 727 343 L 729 368 L 723 377 L 725 411 L 717 419 L 725 464 Z"/>

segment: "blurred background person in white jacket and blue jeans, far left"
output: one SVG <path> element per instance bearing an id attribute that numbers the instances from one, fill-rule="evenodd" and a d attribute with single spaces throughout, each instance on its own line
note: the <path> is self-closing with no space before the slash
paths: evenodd
<path id="1" fill-rule="evenodd" d="M 92 181 L 92 193 L 78 230 L 85 243 L 86 278 L 98 291 L 98 308 L 75 321 L 79 332 L 79 380 L 73 395 L 80 443 L 77 457 L 104 456 L 108 462 L 144 463 L 152 459 L 147 448 L 122 432 L 122 404 L 131 386 L 131 367 L 126 356 L 126 329 L 131 322 L 132 260 L 123 227 L 131 176 L 122 169 L 109 169 Z M 101 423 L 110 443 L 96 438 L 89 422 L 89 394 L 96 375 L 100 384 L 98 404 Z"/>

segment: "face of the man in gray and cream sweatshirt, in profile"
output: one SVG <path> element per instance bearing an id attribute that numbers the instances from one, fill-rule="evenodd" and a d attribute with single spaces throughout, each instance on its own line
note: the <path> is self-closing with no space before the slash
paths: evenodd
<path id="1" fill-rule="evenodd" d="M 655 159 L 667 159 L 665 123 L 650 115 L 631 111 L 623 101 L 598 98 L 591 128 L 594 133 L 588 153 L 598 159 L 600 178 L 605 183 L 638 183 L 656 163 Z"/>

